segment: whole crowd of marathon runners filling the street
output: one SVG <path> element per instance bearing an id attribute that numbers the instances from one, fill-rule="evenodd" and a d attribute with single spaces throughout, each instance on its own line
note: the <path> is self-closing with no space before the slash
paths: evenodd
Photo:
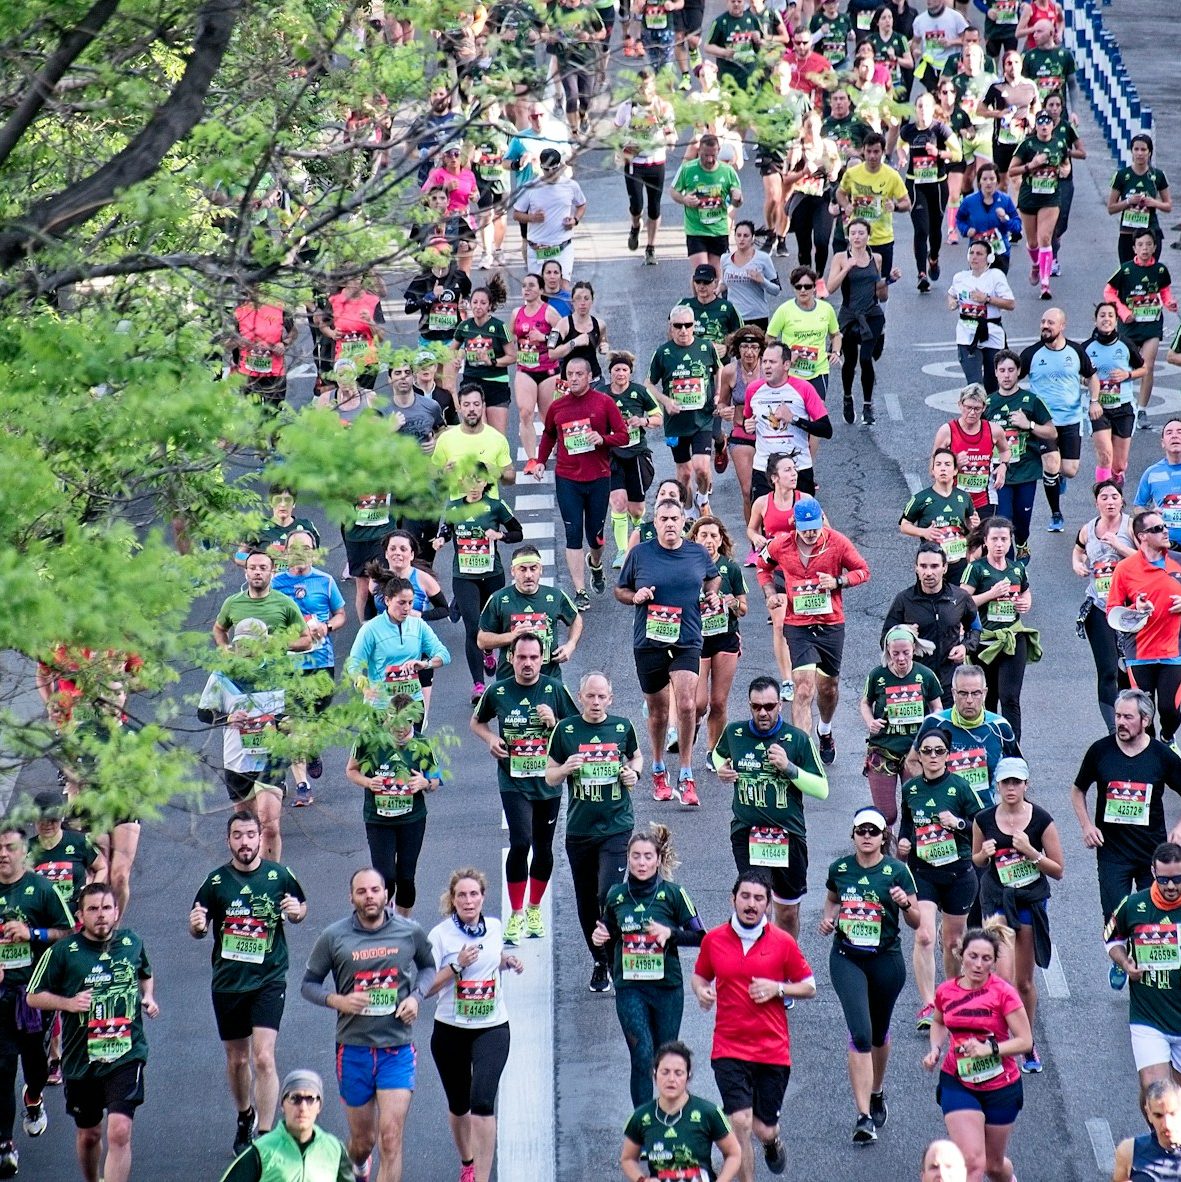
<path id="1" fill-rule="evenodd" d="M 322 514 L 275 486 L 233 556 L 231 583 L 245 583 L 212 628 L 226 671 L 196 707 L 221 735 L 227 857 L 194 883 L 188 916 L 212 944 L 225 1182 L 400 1182 L 428 1020 L 460 1182 L 488 1182 L 515 1017 L 504 980 L 524 970 L 525 942 L 550 935 L 558 832 L 570 877 L 557 889 L 572 888 L 589 989 L 614 994 L 630 1060 L 629 1182 L 753 1182 L 760 1156 L 784 1173 L 791 1014 L 818 989 L 797 942 L 810 889 L 848 1026 L 851 1144 L 884 1135 L 890 1052 L 913 1054 L 946 1125 L 926 1152 L 916 1142 L 920 1176 L 1011 1182 L 1026 1077 L 1045 1066 L 1034 967 L 1050 963 L 1049 902 L 1066 872 L 1063 818 L 1032 799 L 1049 773 L 1023 755 L 1021 697 L 1043 656 L 1033 586 L 1073 589 L 1039 560 L 1033 522 L 1040 487 L 1045 530 L 1065 531 L 1071 482 L 1070 501 L 1088 506 L 1072 514 L 1072 569 L 1101 735 L 1079 747 L 1071 803 L 1095 850 L 1097 929 L 1109 983 L 1128 991 L 1149 1123 L 1118 1147 L 1115 1178 L 1181 1177 L 1181 825 L 1169 831 L 1163 800 L 1181 793 L 1181 418 L 1160 431 L 1163 459 L 1128 469 L 1133 434 L 1154 429 L 1154 368 L 1177 311 L 1160 258 L 1172 197 L 1151 139 L 1136 136 L 1108 196 L 1111 241 L 1076 280 L 1094 292 L 1094 323 L 1068 326 L 1052 285 L 1086 147 L 1059 5 L 727 0 L 707 20 L 702 0 L 623 0 L 618 12 L 614 0 L 499 0 L 417 32 L 379 5 L 369 15 L 358 52 L 418 37 L 440 54 L 404 139 L 417 154 L 421 271 L 397 292 L 389 277 L 346 279 L 306 309 L 306 336 L 305 310 L 251 291 L 229 365 L 245 396 L 279 411 L 310 337 L 314 403 L 414 439 L 439 502 L 408 517 L 396 473 L 366 478 L 338 524 L 338 579 Z M 635 59 L 627 73 L 622 59 Z M 358 143 L 387 139 L 398 112 L 378 111 L 350 124 Z M 580 273 L 591 142 L 609 142 L 622 173 L 618 246 L 683 269 L 692 293 L 660 310 L 667 340 L 649 357 L 596 311 Z M 748 157 L 761 191 L 744 188 Z M 397 149 L 372 162 L 397 165 Z M 683 259 L 657 252 L 666 197 L 680 207 Z M 894 251 L 901 216 L 913 266 Z M 875 422 L 897 284 L 929 293 L 963 374 L 956 416 L 916 441 L 929 485 L 896 514 L 875 507 L 876 528 L 914 540 L 913 572 L 871 570 L 839 501 L 818 496 L 837 483 L 825 466 L 837 403 L 848 428 Z M 409 344 L 383 312 L 403 292 L 417 318 Z M 1039 339 L 1014 351 L 1004 319 L 1023 298 L 1046 303 Z M 1166 357 L 1181 364 L 1181 339 Z M 673 474 L 657 480 L 657 467 Z M 551 480 L 564 552 L 547 572 L 505 494 Z M 719 508 L 731 480 L 741 519 Z M 864 752 L 838 752 L 845 597 L 870 578 L 901 590 L 880 662 L 855 670 L 864 688 L 843 708 L 859 713 Z M 744 648 L 752 615 L 760 635 L 764 615 L 771 625 L 761 651 Z M 618 650 L 595 669 L 576 656 L 585 635 L 622 635 L 629 616 L 634 662 Z M 314 678 L 306 701 L 268 686 L 257 654 L 272 637 Z M 66 639 L 44 655 L 38 687 L 64 730 L 134 725 L 136 661 L 116 651 Z M 76 682 L 95 662 L 108 677 L 90 701 Z M 632 677 L 642 733 L 615 707 Z M 281 857 L 284 807 L 313 807 L 339 753 L 280 756 L 272 740 L 288 714 L 348 694 L 371 721 L 335 771 L 361 790 L 370 864 L 349 878 L 340 918 L 311 921 L 319 934 L 292 999 L 335 1012 L 342 1142 L 317 1124 L 320 1077 L 297 1069 L 280 1085 L 277 1069 L 285 929 L 309 915 Z M 469 696 L 460 759 L 434 734 L 439 694 Z M 838 760 L 864 775 L 863 804 L 839 856 L 810 866 L 809 801 L 828 798 Z M 45 1135 L 45 1089 L 63 1083 L 86 1182 L 131 1171 L 145 1019 L 160 1007 L 148 950 L 121 923 L 139 824 L 83 831 L 73 806 L 92 771 L 64 760 L 60 785 L 33 801 L 35 831 L 0 830 L 0 1177 L 18 1174 L 17 1119 Z M 428 837 L 430 797 L 493 777 L 508 910 L 492 914 L 493 868 L 449 850 L 456 869 L 431 924 L 417 863 L 446 837 Z M 702 808 L 705 778 L 716 787 Z M 658 823 L 636 826 L 637 793 L 667 805 Z M 728 825 L 735 866 L 732 914 L 714 927 L 675 876 L 673 830 L 703 823 Z M 908 973 L 921 1007 L 902 1018 Z M 686 979 L 715 1015 L 720 1105 L 690 1091 L 707 1048 L 680 1038 Z M 917 1048 L 891 1044 L 891 1025 L 911 1027 Z"/>

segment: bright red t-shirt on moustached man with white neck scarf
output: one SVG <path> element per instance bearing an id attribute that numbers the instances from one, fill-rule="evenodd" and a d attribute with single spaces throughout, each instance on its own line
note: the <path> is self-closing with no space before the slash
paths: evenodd
<path id="1" fill-rule="evenodd" d="M 713 1059 L 744 1059 L 772 1066 L 791 1066 L 787 1012 L 778 998 L 758 1002 L 751 998 L 751 980 L 806 981 L 812 968 L 799 944 L 768 923 L 748 953 L 729 923 L 706 933 L 693 969 L 715 982 L 718 989 Z"/>

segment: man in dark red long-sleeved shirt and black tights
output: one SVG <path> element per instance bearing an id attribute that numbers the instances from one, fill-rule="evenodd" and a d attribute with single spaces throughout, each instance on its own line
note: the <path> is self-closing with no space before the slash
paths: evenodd
<path id="1" fill-rule="evenodd" d="M 583 539 L 590 553 L 595 595 L 606 590 L 603 574 L 603 532 L 611 499 L 611 448 L 628 442 L 628 424 L 615 400 L 592 390 L 590 362 L 572 357 L 566 362 L 569 390 L 554 398 L 545 413 L 545 429 L 532 474 L 541 479 L 545 461 L 557 449 L 553 492 L 558 499 L 562 524 L 566 527 L 566 569 L 575 585 L 575 606 L 590 608 L 586 574 L 583 570 Z"/>

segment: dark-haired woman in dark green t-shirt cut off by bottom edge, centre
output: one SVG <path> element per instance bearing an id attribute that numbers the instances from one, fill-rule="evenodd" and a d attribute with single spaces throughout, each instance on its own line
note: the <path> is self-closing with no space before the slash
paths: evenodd
<path id="1" fill-rule="evenodd" d="M 683 1043 L 660 1046 L 649 1072 L 656 1080 L 656 1099 L 641 1103 L 623 1130 L 619 1164 L 628 1182 L 647 1182 L 669 1170 L 713 1176 L 716 1182 L 734 1182 L 742 1165 L 742 1150 L 725 1113 L 714 1104 L 689 1093 L 693 1053 Z M 688 1116 L 684 1131 L 681 1118 Z M 664 1130 L 664 1131 L 661 1131 Z M 673 1137 L 676 1137 L 675 1142 Z M 714 1147 L 721 1151 L 722 1168 L 713 1171 Z M 655 1175 L 640 1169 L 640 1158 Z M 675 1174 L 673 1175 L 675 1176 Z"/>

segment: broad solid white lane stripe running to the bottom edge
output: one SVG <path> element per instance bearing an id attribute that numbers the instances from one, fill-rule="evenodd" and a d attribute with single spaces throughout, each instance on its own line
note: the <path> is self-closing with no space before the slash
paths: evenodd
<path id="1" fill-rule="evenodd" d="M 504 851 L 507 855 L 507 850 Z M 500 915 L 507 920 L 508 883 L 500 871 Z M 552 1178 L 557 1176 L 553 1130 L 557 1124 L 553 1077 L 553 911 L 552 891 L 541 900 L 545 940 L 524 940 L 515 955 L 525 965 L 518 976 L 506 972 L 505 1005 L 513 1025 L 497 1122 L 497 1177 Z"/>

